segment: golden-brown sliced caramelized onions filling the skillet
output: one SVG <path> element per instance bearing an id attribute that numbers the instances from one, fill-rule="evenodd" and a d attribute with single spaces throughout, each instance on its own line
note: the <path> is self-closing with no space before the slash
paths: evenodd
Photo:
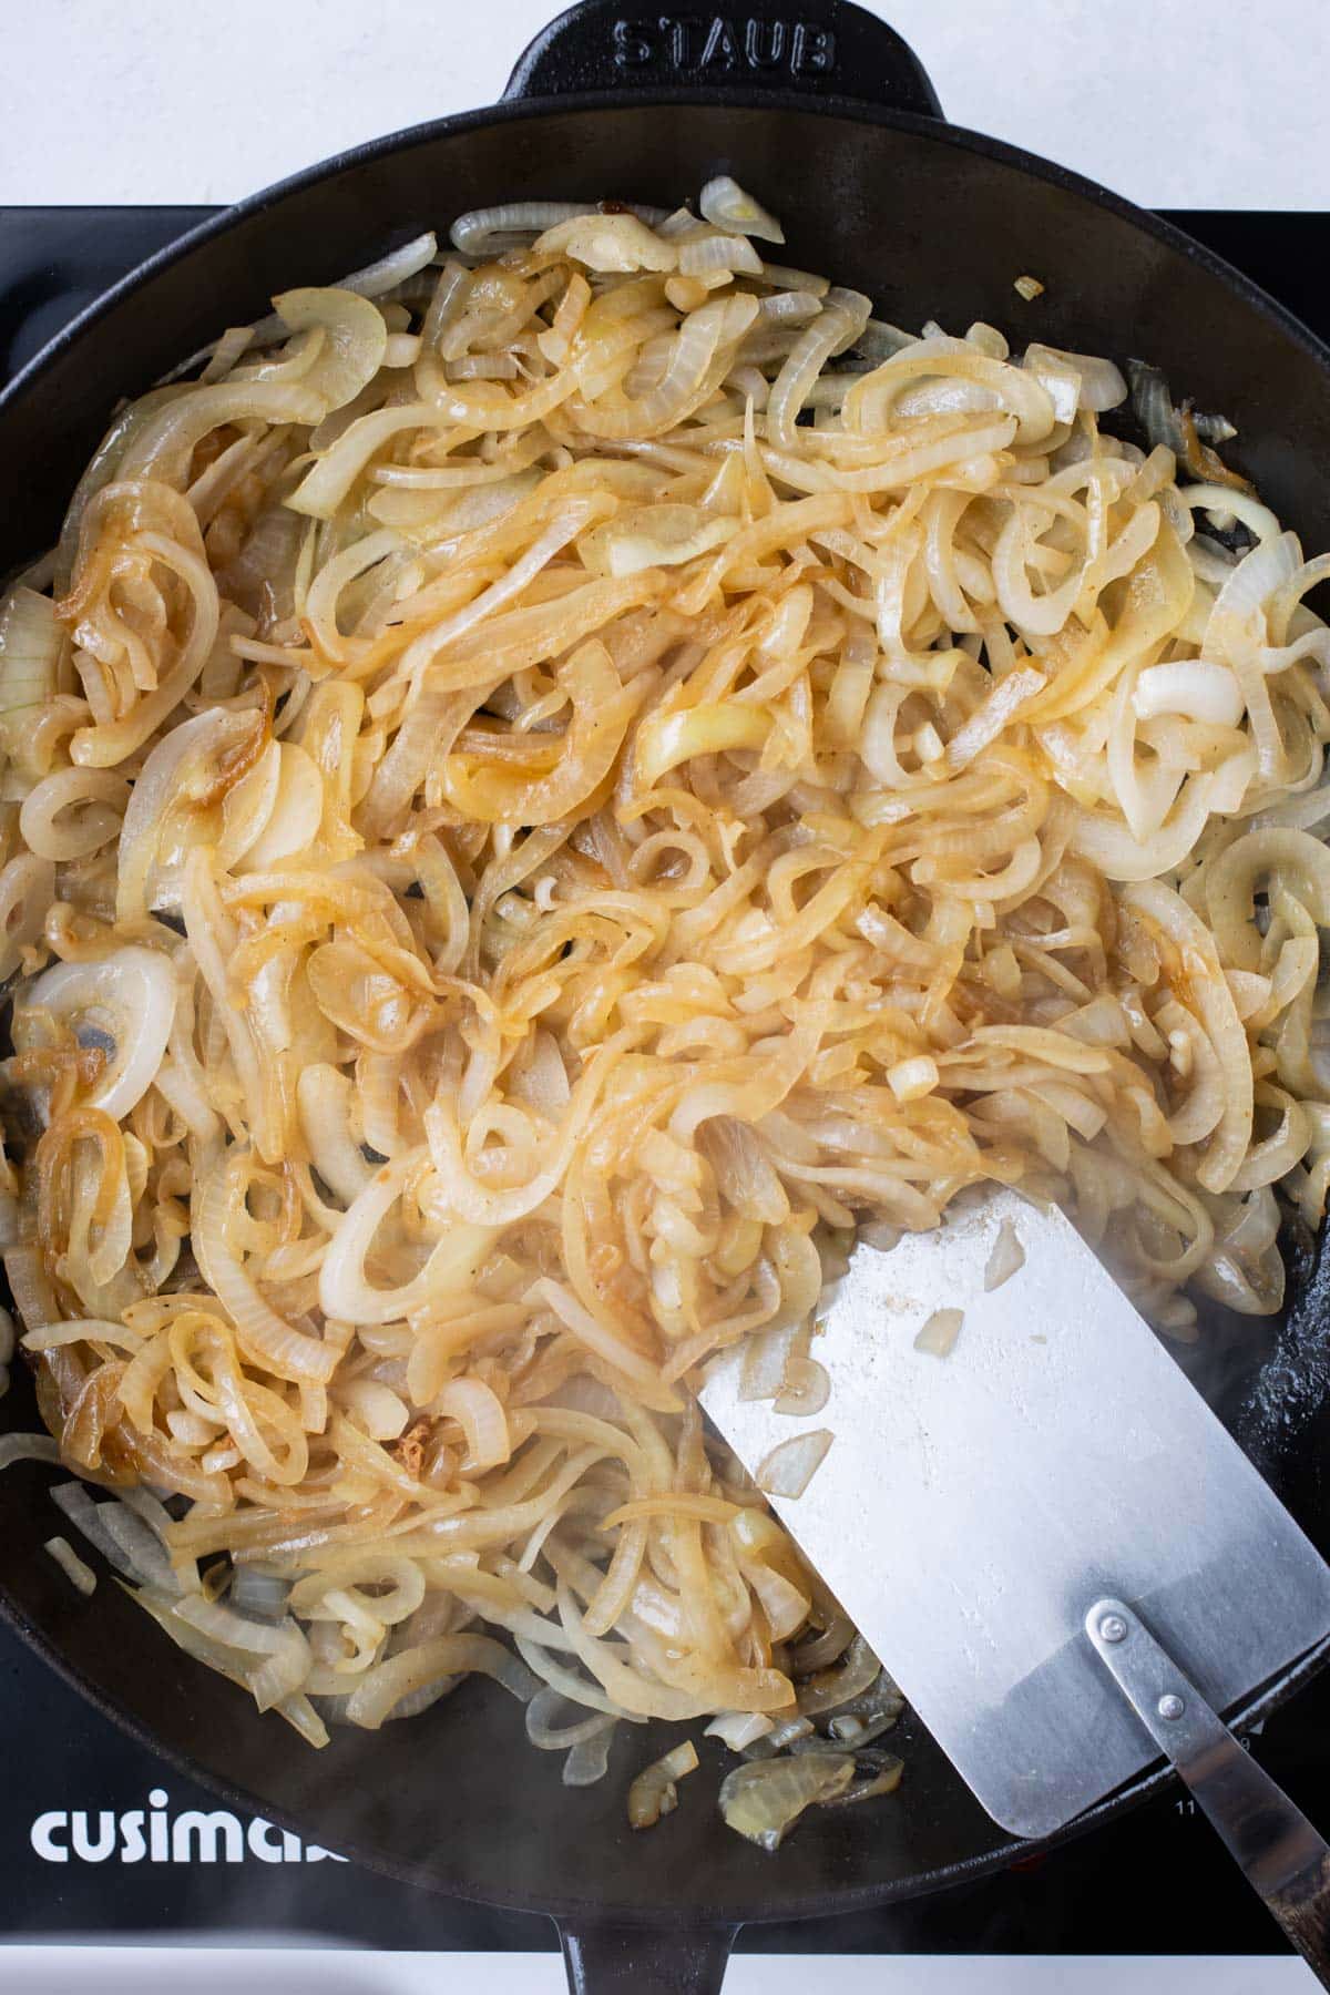
<path id="1" fill-rule="evenodd" d="M 873 319 L 726 176 L 453 239 L 130 405 L 0 606 L 0 1245 L 60 1436 L 0 1466 L 124 1492 L 62 1500 L 315 1746 L 469 1672 L 572 1786 L 718 1720 L 774 1845 L 899 1778 L 764 1502 L 855 1237 L 999 1177 L 1194 1335 L 1322 1221 L 1330 559 L 1163 377 L 1143 455 L 1111 361 Z M 736 1347 L 800 1422 L 758 1486 L 694 1404 Z"/>

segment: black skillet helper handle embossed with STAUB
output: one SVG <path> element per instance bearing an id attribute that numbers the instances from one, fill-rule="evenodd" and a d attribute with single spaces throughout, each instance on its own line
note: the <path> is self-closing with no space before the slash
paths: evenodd
<path id="1" fill-rule="evenodd" d="M 857 98 L 941 118 L 909 44 L 851 0 L 750 0 L 736 14 L 578 0 L 522 50 L 504 98 L 698 86 Z"/>

